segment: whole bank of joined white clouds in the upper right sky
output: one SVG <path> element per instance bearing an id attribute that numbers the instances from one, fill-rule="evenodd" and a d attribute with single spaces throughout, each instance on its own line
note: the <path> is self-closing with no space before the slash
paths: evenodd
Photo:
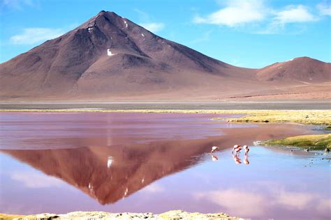
<path id="1" fill-rule="evenodd" d="M 330 15 L 330 3 L 322 2 L 317 6 L 320 15 Z M 320 19 L 312 13 L 314 10 L 303 5 L 288 5 L 284 8 L 272 8 L 265 0 L 226 0 L 223 8 L 209 15 L 193 17 L 194 23 L 216 24 L 245 28 L 251 33 L 279 33 L 288 31 L 286 24 L 306 24 Z M 316 10 L 315 10 L 316 14 Z M 248 26 L 250 24 L 250 26 Z M 247 29 L 248 28 L 248 29 Z M 304 26 L 295 26 L 290 33 L 302 33 Z"/>

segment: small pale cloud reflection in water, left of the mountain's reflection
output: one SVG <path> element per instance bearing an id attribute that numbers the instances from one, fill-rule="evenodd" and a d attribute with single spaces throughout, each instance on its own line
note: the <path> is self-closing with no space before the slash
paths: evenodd
<path id="1" fill-rule="evenodd" d="M 57 187 L 63 183 L 57 178 L 32 172 L 13 173 L 10 175 L 10 178 L 22 182 L 22 184 L 29 188 Z"/>

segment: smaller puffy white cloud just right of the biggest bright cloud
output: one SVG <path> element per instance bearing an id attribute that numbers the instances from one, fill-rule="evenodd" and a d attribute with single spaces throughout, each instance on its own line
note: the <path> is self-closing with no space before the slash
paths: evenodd
<path id="1" fill-rule="evenodd" d="M 298 6 L 286 6 L 284 10 L 280 10 L 275 13 L 274 21 L 278 24 L 284 25 L 286 23 L 301 23 L 301 22 L 314 22 L 316 17 L 309 13 L 307 7 Z"/>

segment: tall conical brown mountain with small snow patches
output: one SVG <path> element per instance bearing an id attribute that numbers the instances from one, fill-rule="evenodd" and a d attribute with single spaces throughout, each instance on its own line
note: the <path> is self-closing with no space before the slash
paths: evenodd
<path id="1" fill-rule="evenodd" d="M 1 90 L 8 94 L 113 95 L 198 86 L 201 73 L 212 82 L 215 76 L 240 77 L 245 69 L 101 11 L 73 31 L 2 63 L 0 70 Z"/>

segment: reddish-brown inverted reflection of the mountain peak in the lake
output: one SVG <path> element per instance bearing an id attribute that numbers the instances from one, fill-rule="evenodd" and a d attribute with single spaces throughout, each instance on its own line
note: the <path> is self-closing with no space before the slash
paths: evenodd
<path id="1" fill-rule="evenodd" d="M 130 196 L 165 175 L 198 164 L 212 142 L 160 141 L 131 146 L 1 152 L 72 184 L 104 205 Z"/>

